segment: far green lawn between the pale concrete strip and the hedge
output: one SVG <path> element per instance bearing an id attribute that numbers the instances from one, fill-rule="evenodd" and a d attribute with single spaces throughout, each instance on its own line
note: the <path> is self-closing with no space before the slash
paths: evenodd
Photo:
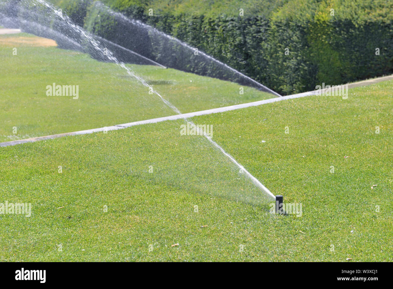
<path id="1" fill-rule="evenodd" d="M 116 64 L 51 45 L 26 33 L 0 35 L 0 142 L 175 114 Z M 174 69 L 128 66 L 183 113 L 274 97 L 249 87 L 240 94 L 236 83 Z M 47 96 L 53 83 L 78 86 L 78 99 Z"/>

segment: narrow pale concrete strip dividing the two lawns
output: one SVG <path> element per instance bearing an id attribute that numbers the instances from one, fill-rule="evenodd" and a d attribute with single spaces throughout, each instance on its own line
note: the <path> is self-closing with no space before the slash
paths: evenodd
<path id="1" fill-rule="evenodd" d="M 393 79 L 393 75 L 378 77 L 375 79 L 369 79 L 369 80 L 359 81 L 359 82 L 355 82 L 355 83 L 349 83 L 347 85 L 348 85 L 348 88 L 353 88 L 353 87 L 371 85 L 374 83 L 378 83 L 381 81 L 387 81 L 387 80 L 391 80 L 391 79 Z M 228 107 L 219 107 L 217 109 L 201 110 L 201 111 L 189 112 L 189 113 L 185 113 L 185 114 L 176 114 L 173 116 L 165 116 L 162 118 L 153 118 L 151 120 L 141 120 L 141 121 L 134 121 L 134 122 L 130 122 L 130 123 L 123 123 L 123 124 L 119 124 L 119 125 L 113 125 L 111 127 L 100 127 L 97 129 L 87 129 L 84 131 L 75 131 L 72 133 L 52 134 L 49 136 L 39 136 L 37 138 L 28 138 L 28 139 L 24 139 L 24 140 L 13 140 L 10 142 L 1 142 L 0 147 L 6 147 L 9 145 L 17 145 L 17 144 L 25 144 L 27 142 L 37 142 L 40 140 L 49 140 L 52 138 L 61 138 L 63 136 L 73 136 L 73 135 L 78 135 L 78 134 L 97 133 L 97 132 L 102 132 L 102 131 L 113 131 L 113 130 L 117 130 L 117 129 L 125 129 L 126 127 L 132 127 L 135 125 L 142 125 L 142 124 L 147 124 L 147 123 L 158 123 L 158 122 L 167 121 L 167 120 L 178 120 L 180 118 L 192 118 L 194 116 L 201 116 L 201 115 L 205 115 L 205 114 L 213 114 L 213 113 L 225 112 L 225 111 L 230 111 L 230 110 L 235 110 L 235 109 L 242 109 L 242 108 L 246 108 L 246 107 L 253 107 L 253 106 L 263 105 L 265 103 L 273 103 L 273 102 L 277 102 L 277 101 L 283 101 L 286 99 L 294 99 L 294 98 L 301 98 L 304 96 L 312 96 L 312 95 L 316 95 L 317 92 L 318 92 L 318 90 L 313 90 L 313 91 L 303 92 L 303 93 L 299 93 L 299 94 L 292 94 L 289 96 L 281 96 L 278 98 L 264 99 L 264 100 L 249 102 L 249 103 L 231 105 Z"/>

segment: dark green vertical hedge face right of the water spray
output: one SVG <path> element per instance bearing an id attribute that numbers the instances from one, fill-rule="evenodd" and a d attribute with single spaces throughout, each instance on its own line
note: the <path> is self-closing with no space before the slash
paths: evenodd
<path id="1" fill-rule="evenodd" d="M 180 24 L 173 26 L 171 35 L 281 94 L 313 90 L 323 82 L 337 85 L 393 73 L 392 22 L 272 23 L 263 17 L 173 21 Z"/>

